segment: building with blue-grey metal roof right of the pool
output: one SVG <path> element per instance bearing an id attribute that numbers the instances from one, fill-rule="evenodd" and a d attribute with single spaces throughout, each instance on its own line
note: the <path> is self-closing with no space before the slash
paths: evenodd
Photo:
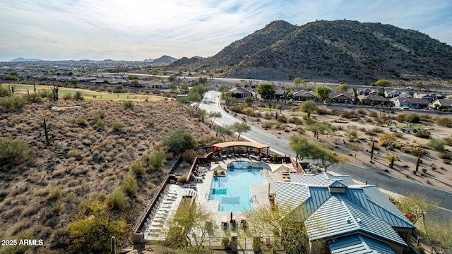
<path id="1" fill-rule="evenodd" d="M 409 248 L 415 226 L 376 186 L 327 173 L 290 179 L 275 182 L 278 207 L 304 222 L 309 243 L 326 241 L 328 249 L 319 253 L 402 254 Z"/>

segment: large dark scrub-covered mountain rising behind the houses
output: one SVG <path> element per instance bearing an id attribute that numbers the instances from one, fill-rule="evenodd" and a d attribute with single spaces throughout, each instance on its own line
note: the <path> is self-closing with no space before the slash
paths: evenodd
<path id="1" fill-rule="evenodd" d="M 381 78 L 451 80 L 450 66 L 452 47 L 415 30 L 352 20 L 301 26 L 278 20 L 189 68 L 229 78 L 369 85 Z"/>

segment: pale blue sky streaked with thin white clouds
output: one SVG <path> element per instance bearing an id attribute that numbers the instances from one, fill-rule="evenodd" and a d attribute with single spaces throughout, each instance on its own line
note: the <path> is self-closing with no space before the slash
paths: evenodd
<path id="1" fill-rule="evenodd" d="M 213 56 L 274 20 L 357 20 L 452 46 L 450 0 L 0 0 L 0 61 Z"/>

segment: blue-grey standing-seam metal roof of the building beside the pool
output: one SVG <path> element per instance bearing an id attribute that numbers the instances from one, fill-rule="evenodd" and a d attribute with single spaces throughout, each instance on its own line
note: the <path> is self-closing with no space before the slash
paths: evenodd
<path id="1" fill-rule="evenodd" d="M 355 184 L 350 176 L 290 174 L 291 182 L 275 182 L 281 212 L 305 221 L 309 239 L 362 232 L 406 246 L 393 227 L 415 226 L 376 186 Z M 344 193 L 328 187 L 344 188 Z"/>

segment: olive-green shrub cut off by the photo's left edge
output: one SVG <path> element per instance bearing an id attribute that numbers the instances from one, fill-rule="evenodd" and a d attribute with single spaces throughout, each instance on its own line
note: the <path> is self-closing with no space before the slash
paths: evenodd
<path id="1" fill-rule="evenodd" d="M 23 140 L 0 138 L 0 166 L 31 162 L 36 150 Z"/>

